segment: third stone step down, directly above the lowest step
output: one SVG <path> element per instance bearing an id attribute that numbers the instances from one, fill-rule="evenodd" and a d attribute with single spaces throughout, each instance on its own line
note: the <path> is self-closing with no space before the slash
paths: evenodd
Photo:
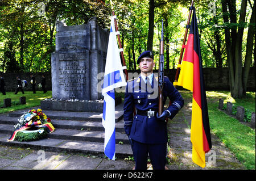
<path id="1" fill-rule="evenodd" d="M 13 125 L 0 124 L 0 133 L 9 133 L 10 136 L 14 131 Z M 75 141 L 92 141 L 104 142 L 105 133 L 102 131 L 81 131 L 77 129 L 61 129 L 58 128 L 54 132 L 48 134 L 49 138 L 62 139 L 62 140 L 75 140 Z M 129 139 L 125 133 L 115 132 L 115 142 L 118 144 L 130 144 Z"/>

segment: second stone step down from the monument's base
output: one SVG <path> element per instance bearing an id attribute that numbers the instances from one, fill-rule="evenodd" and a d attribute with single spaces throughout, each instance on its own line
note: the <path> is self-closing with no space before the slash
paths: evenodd
<path id="1" fill-rule="evenodd" d="M 0 116 L 0 124 L 15 125 L 18 123 L 18 119 L 19 117 Z M 74 121 L 74 120 L 52 119 L 52 124 L 55 128 L 105 131 L 100 121 Z M 123 125 L 124 125 L 123 119 L 115 123 L 115 132 L 125 132 Z"/>

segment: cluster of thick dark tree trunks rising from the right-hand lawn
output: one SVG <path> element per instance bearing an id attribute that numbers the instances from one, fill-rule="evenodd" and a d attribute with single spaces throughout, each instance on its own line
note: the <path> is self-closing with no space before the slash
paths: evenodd
<path id="1" fill-rule="evenodd" d="M 243 60 L 242 57 L 242 43 L 243 32 L 247 26 L 247 1 L 241 1 L 240 11 L 237 11 L 237 2 L 234 0 L 222 0 L 221 5 L 225 27 L 225 44 L 229 68 L 230 91 L 233 98 L 240 98 L 246 94 L 247 79 L 252 60 L 253 39 L 255 34 L 255 1 L 253 6 L 249 6 L 252 13 L 247 33 L 245 60 Z M 237 17 L 239 19 L 237 19 Z"/>

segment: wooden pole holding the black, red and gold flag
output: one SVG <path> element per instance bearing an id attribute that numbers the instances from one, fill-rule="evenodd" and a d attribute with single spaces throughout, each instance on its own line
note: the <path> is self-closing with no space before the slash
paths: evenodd
<path id="1" fill-rule="evenodd" d="M 193 7 L 194 1 L 191 2 L 191 7 Z M 177 70 L 176 70 L 176 74 L 175 74 L 175 80 L 174 80 L 174 86 L 177 85 L 177 79 L 179 77 L 179 72 L 180 72 L 180 64 L 181 64 L 181 60 L 183 57 L 183 53 L 184 53 L 184 48 L 185 48 L 185 43 L 187 40 L 187 35 L 188 35 L 188 26 L 190 23 L 190 19 L 191 19 L 191 15 L 192 15 L 192 8 L 189 9 L 189 15 L 188 15 L 188 22 L 187 22 L 187 26 L 186 26 L 186 30 L 185 30 L 185 35 L 184 35 L 184 39 L 183 39 L 183 43 L 182 43 L 182 48 L 181 48 L 181 52 L 180 52 L 180 58 L 179 58 L 179 63 L 177 65 Z"/>

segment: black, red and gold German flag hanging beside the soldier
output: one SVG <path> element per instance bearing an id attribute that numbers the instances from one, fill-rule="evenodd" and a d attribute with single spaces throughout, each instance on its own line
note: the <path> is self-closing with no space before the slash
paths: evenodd
<path id="1" fill-rule="evenodd" d="M 191 120 L 192 161 L 200 167 L 205 167 L 205 153 L 212 148 L 212 141 L 210 138 L 208 107 L 204 89 L 203 65 L 195 7 L 193 7 L 192 22 L 177 85 L 193 91 Z"/>

